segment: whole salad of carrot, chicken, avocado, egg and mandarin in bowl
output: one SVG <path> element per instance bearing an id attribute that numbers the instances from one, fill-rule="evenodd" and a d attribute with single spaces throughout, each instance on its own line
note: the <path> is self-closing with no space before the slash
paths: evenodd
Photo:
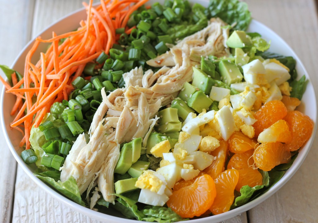
<path id="1" fill-rule="evenodd" d="M 174 222 L 227 212 L 280 180 L 310 138 L 306 79 L 293 57 L 248 33 L 238 0 L 83 3 L 72 32 L 38 37 L 12 128 L 39 179 L 74 202 Z M 46 52 L 31 63 L 39 44 Z"/>

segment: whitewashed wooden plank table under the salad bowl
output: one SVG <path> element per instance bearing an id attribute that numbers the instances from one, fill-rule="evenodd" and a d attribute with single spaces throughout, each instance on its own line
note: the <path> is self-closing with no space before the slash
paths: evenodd
<path id="1" fill-rule="evenodd" d="M 10 66 L 30 39 L 60 17 L 81 8 L 81 2 L 0 0 L 0 64 Z M 253 18 L 273 29 L 294 49 L 307 68 L 313 85 L 317 86 L 318 17 L 315 1 L 246 2 Z M 31 181 L 17 166 L 2 130 L 0 151 L 0 222 L 99 222 L 62 205 Z M 225 222 L 318 222 L 317 160 L 316 137 L 305 162 L 285 186 L 260 205 Z"/>

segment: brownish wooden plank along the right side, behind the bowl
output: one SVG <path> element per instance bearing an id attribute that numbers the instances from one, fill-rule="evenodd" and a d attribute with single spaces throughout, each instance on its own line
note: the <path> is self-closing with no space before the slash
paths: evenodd
<path id="1" fill-rule="evenodd" d="M 246 0 L 252 16 L 279 34 L 305 65 L 314 86 L 318 20 L 314 0 Z M 317 97 L 317 92 L 316 92 Z M 250 222 L 318 222 L 318 139 L 292 179 L 272 197 L 248 212 Z"/>

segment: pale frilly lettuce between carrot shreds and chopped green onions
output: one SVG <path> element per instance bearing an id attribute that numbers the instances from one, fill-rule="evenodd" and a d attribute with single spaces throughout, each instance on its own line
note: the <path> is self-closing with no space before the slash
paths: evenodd
<path id="1" fill-rule="evenodd" d="M 50 114 L 46 113 L 41 123 L 44 123 L 45 121 L 51 121 L 53 122 L 55 118 Z M 41 164 L 42 156 L 44 156 L 45 152 L 42 149 L 42 146 L 47 143 L 48 141 L 45 139 L 45 136 L 43 132 L 39 128 L 34 128 L 32 126 L 31 132 L 30 132 L 30 143 L 34 150 L 34 153 L 37 155 L 38 160 L 35 162 L 37 167 L 43 171 L 47 171 L 48 169 Z"/>

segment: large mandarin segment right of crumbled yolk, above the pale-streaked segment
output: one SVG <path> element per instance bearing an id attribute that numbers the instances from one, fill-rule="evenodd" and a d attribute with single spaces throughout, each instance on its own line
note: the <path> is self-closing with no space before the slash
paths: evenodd
<path id="1" fill-rule="evenodd" d="M 287 108 L 281 101 L 273 100 L 266 102 L 254 115 L 257 120 L 253 124 L 255 136 L 258 136 L 264 129 L 283 119 L 286 115 Z"/>

